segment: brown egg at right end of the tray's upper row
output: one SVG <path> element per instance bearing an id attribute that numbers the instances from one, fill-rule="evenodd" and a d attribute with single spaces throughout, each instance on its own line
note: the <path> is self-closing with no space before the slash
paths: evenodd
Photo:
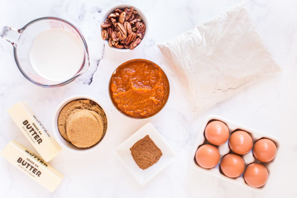
<path id="1" fill-rule="evenodd" d="M 253 154 L 257 160 L 268 162 L 276 156 L 277 146 L 271 140 L 263 138 L 254 144 Z"/>

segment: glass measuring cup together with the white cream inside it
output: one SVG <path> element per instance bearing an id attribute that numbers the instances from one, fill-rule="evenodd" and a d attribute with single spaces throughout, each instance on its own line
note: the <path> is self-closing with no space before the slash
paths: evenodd
<path id="1" fill-rule="evenodd" d="M 12 44 L 18 69 L 35 85 L 60 87 L 90 67 L 83 35 L 64 19 L 38 18 L 21 29 L 4 26 L 0 36 Z"/>

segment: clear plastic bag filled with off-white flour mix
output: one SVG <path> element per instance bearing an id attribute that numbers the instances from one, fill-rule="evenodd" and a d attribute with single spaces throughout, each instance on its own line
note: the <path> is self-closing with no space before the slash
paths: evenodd
<path id="1" fill-rule="evenodd" d="M 176 72 L 194 115 L 281 71 L 243 4 L 158 47 Z"/>

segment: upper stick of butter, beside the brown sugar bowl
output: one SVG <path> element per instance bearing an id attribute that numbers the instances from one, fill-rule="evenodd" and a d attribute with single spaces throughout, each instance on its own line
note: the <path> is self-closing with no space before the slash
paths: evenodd
<path id="1" fill-rule="evenodd" d="M 7 112 L 46 162 L 60 153 L 61 147 L 48 134 L 48 131 L 25 101 L 17 102 Z"/>

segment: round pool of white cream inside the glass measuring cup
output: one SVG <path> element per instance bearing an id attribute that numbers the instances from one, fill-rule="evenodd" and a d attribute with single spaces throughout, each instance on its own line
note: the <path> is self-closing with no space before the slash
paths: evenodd
<path id="1" fill-rule="evenodd" d="M 49 29 L 38 34 L 29 50 L 33 69 L 48 80 L 65 80 L 79 71 L 84 50 L 73 34 L 64 29 Z"/>

